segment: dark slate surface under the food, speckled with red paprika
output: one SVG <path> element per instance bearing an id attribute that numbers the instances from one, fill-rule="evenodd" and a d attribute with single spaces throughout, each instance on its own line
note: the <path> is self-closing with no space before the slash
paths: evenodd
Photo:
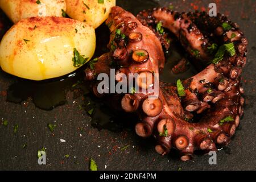
<path id="1" fill-rule="evenodd" d="M 198 7 L 200 10 L 216 1 L 171 2 L 175 10 L 192 11 L 193 8 Z M 156 6 L 157 3 L 164 6 L 170 2 L 118 1 L 118 5 L 133 13 Z M 105 167 L 106 170 L 255 170 L 256 3 L 254 0 L 218 1 L 217 10 L 228 14 L 233 22 L 240 24 L 249 40 L 248 60 L 242 75 L 246 98 L 245 114 L 240 130 L 228 148 L 217 152 L 217 165 L 208 164 L 209 156 L 196 155 L 189 162 L 181 162 L 174 155 L 159 156 L 154 151 L 153 139 L 143 140 L 130 128 L 119 132 L 93 128 L 90 117 L 79 109 L 81 97 L 73 99 L 72 92 L 67 95 L 67 104 L 51 111 L 38 109 L 30 99 L 22 104 L 6 102 L 5 91 L 16 78 L 1 71 L 0 119 L 7 119 L 9 125 L 0 125 L 0 170 L 88 170 L 91 157 L 96 160 L 100 170 Z M 55 121 L 57 127 L 51 133 L 47 123 Z M 19 125 L 16 135 L 13 133 L 15 124 Z M 65 139 L 66 142 L 60 142 L 60 139 Z M 27 147 L 23 148 L 23 144 Z M 126 145 L 129 145 L 126 150 L 118 148 Z M 39 166 L 36 154 L 42 147 L 46 148 L 47 164 Z M 65 158 L 66 154 L 70 157 Z"/>

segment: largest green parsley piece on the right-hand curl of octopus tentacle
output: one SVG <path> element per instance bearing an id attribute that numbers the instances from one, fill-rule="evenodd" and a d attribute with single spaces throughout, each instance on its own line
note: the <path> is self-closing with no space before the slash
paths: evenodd
<path id="1" fill-rule="evenodd" d="M 234 56 L 236 54 L 236 49 L 234 48 L 234 43 L 227 43 L 218 48 L 218 51 L 212 60 L 213 64 L 217 64 L 219 61 L 224 59 L 225 53 L 228 52 L 230 56 Z"/>

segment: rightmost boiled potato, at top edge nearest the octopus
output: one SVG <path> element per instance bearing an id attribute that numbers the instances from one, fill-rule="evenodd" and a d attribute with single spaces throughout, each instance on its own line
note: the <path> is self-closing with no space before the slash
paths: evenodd
<path id="1" fill-rule="evenodd" d="M 67 14 L 76 20 L 97 28 L 109 16 L 115 0 L 65 0 Z"/>

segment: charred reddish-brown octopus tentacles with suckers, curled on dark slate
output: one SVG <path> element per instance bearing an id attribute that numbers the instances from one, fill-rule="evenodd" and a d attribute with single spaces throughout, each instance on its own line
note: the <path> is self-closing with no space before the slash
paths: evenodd
<path id="1" fill-rule="evenodd" d="M 121 7 L 112 8 L 106 22 L 111 31 L 110 52 L 99 57 L 93 69 L 86 69 L 86 80 L 91 80 L 95 88 L 97 75 L 109 74 L 109 69 L 115 68 L 116 74 L 127 76 L 138 73 L 143 77 L 142 73 L 151 73 L 148 82 L 152 84 L 152 80 L 158 79 L 155 73 L 160 73 L 164 67 L 161 43 L 168 47 L 160 38 L 163 32 L 155 30 L 161 22 L 166 28 L 164 31 L 176 35 L 193 59 L 208 63 L 208 66 L 180 82 L 182 88 L 164 82 L 154 85 L 154 90 L 156 86 L 159 89 L 155 100 L 148 98 L 150 92 L 109 94 L 106 97 L 118 101 L 117 109 L 138 114 L 136 133 L 144 138 L 153 135 L 157 142 L 155 150 L 160 155 L 175 148 L 180 159 L 187 161 L 193 158 L 195 150 L 208 153 L 228 144 L 243 114 L 240 75 L 246 63 L 247 46 L 243 32 L 236 23 L 220 14 L 209 17 L 204 12 L 179 14 L 158 8 L 143 11 L 137 18 Z M 115 77 L 116 82 L 122 79 Z M 93 90 L 96 96 L 102 97 L 96 89 Z"/>

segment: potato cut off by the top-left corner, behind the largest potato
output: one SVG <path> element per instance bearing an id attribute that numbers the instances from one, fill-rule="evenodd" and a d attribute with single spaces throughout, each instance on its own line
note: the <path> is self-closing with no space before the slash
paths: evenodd
<path id="1" fill-rule="evenodd" d="M 62 16 L 65 0 L 0 0 L 0 8 L 14 22 L 35 16 Z"/>

